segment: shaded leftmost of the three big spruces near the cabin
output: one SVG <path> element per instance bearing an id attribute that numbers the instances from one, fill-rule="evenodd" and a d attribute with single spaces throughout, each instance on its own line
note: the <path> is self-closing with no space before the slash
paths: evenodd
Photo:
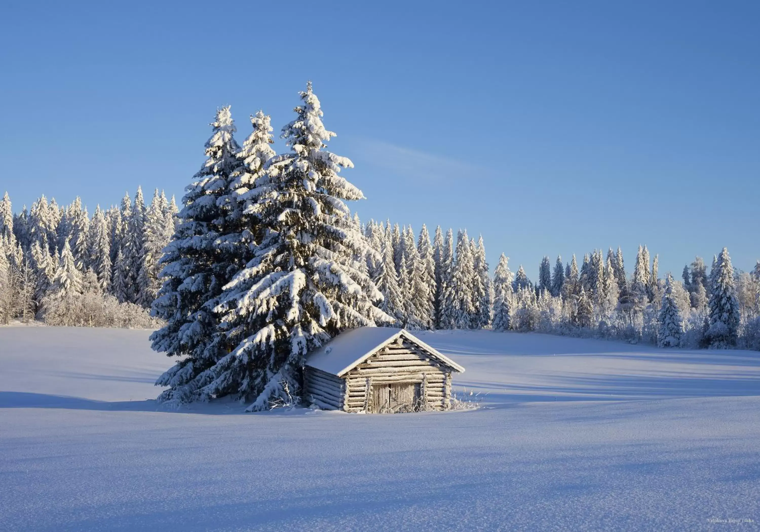
<path id="1" fill-rule="evenodd" d="M 216 244 L 226 234 L 228 214 L 217 201 L 228 193 L 240 166 L 229 106 L 217 110 L 211 128 L 206 161 L 185 188 L 181 221 L 161 259 L 163 284 L 153 303 L 153 315 L 166 321 L 150 335 L 153 349 L 182 357 L 158 378 L 157 385 L 169 386 L 158 397 L 162 402 L 207 398 L 201 388 L 214 381 L 209 369 L 232 347 L 220 333 L 220 316 L 214 312 L 223 286 L 236 273 L 220 261 Z"/>

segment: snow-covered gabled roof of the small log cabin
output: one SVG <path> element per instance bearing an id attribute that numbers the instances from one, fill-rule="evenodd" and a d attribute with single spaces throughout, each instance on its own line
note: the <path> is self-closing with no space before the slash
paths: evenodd
<path id="1" fill-rule="evenodd" d="M 409 331 L 388 327 L 359 327 L 344 331 L 330 340 L 328 344 L 309 354 L 306 357 L 306 366 L 321 369 L 323 372 L 340 377 L 363 363 L 378 350 L 394 342 L 399 336 L 403 336 L 405 340 L 416 344 L 417 347 L 426 351 L 432 358 L 445 363 L 446 366 L 450 366 L 458 372 L 464 372 L 464 368 L 458 363 L 442 355 Z"/>

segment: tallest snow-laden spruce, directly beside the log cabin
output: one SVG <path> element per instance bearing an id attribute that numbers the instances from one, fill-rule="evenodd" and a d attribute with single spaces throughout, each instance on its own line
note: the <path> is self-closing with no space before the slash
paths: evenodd
<path id="1" fill-rule="evenodd" d="M 281 135 L 290 153 L 270 160 L 255 204 L 264 236 L 217 306 L 236 347 L 198 377 L 201 397 L 253 400 L 250 411 L 299 394 L 303 357 L 340 331 L 393 321 L 356 261 L 369 245 L 344 201 L 364 195 L 338 176 L 353 163 L 325 150 L 335 134 L 311 83 L 300 96 Z"/>

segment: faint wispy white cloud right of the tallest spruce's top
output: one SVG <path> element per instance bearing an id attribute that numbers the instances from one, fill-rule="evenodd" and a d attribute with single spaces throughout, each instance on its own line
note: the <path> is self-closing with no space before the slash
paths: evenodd
<path id="1" fill-rule="evenodd" d="M 482 176 L 487 169 L 473 166 L 454 157 L 429 154 L 385 141 L 352 138 L 351 158 L 356 163 L 375 166 L 405 179 L 425 182 L 448 182 L 463 177 Z"/>

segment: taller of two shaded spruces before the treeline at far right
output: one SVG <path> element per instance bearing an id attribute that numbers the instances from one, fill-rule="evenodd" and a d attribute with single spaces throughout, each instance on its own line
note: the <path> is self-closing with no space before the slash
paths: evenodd
<path id="1" fill-rule="evenodd" d="M 710 347 L 726 349 L 736 345 L 739 333 L 739 303 L 736 301 L 736 288 L 733 279 L 733 266 L 724 248 L 717 257 L 712 277 L 710 293 L 709 328 L 705 335 Z"/>

